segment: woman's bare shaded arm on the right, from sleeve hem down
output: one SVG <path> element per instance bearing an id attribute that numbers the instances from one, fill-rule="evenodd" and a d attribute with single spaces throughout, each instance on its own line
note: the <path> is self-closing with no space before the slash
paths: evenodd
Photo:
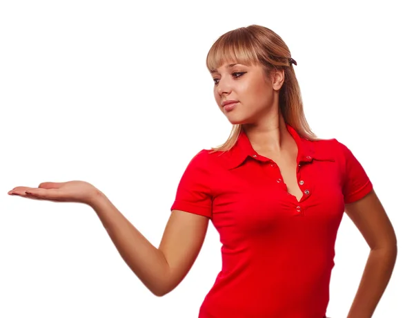
<path id="1" fill-rule="evenodd" d="M 369 318 L 391 278 L 397 258 L 397 238 L 375 191 L 347 204 L 345 212 L 371 248 L 347 318 Z"/>

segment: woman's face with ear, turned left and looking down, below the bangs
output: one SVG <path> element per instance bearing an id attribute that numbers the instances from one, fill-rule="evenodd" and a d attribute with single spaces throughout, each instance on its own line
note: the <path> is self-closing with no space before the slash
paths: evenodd
<path id="1" fill-rule="evenodd" d="M 283 71 L 266 75 L 260 65 L 225 63 L 211 75 L 217 105 L 232 124 L 255 124 L 277 115 Z"/>

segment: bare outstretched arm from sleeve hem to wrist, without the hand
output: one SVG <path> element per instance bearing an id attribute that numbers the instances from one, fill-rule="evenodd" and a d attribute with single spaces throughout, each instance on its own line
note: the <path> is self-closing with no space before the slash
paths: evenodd
<path id="1" fill-rule="evenodd" d="M 159 297 L 186 277 L 206 237 L 208 217 L 174 209 L 157 248 L 101 191 L 90 206 L 132 272 Z"/>

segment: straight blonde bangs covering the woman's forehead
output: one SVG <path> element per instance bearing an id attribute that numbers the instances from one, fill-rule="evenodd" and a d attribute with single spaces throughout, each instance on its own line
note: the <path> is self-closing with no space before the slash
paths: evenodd
<path id="1" fill-rule="evenodd" d="M 224 63 L 248 66 L 259 63 L 253 38 L 246 29 L 243 29 L 227 32 L 215 41 L 206 59 L 208 71 L 215 71 Z"/>

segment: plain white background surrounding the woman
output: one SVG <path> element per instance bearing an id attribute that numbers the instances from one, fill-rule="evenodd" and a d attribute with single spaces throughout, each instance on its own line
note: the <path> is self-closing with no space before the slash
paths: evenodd
<path id="1" fill-rule="evenodd" d="M 414 317 L 410 1 L 1 1 L 0 317 L 195 318 L 221 269 L 219 236 L 155 297 L 93 210 L 8 196 L 86 180 L 159 245 L 181 174 L 230 124 L 205 66 L 221 34 L 260 24 L 297 61 L 306 117 L 346 144 L 397 232 L 374 317 Z M 328 316 L 346 317 L 368 245 L 345 215 Z"/>

